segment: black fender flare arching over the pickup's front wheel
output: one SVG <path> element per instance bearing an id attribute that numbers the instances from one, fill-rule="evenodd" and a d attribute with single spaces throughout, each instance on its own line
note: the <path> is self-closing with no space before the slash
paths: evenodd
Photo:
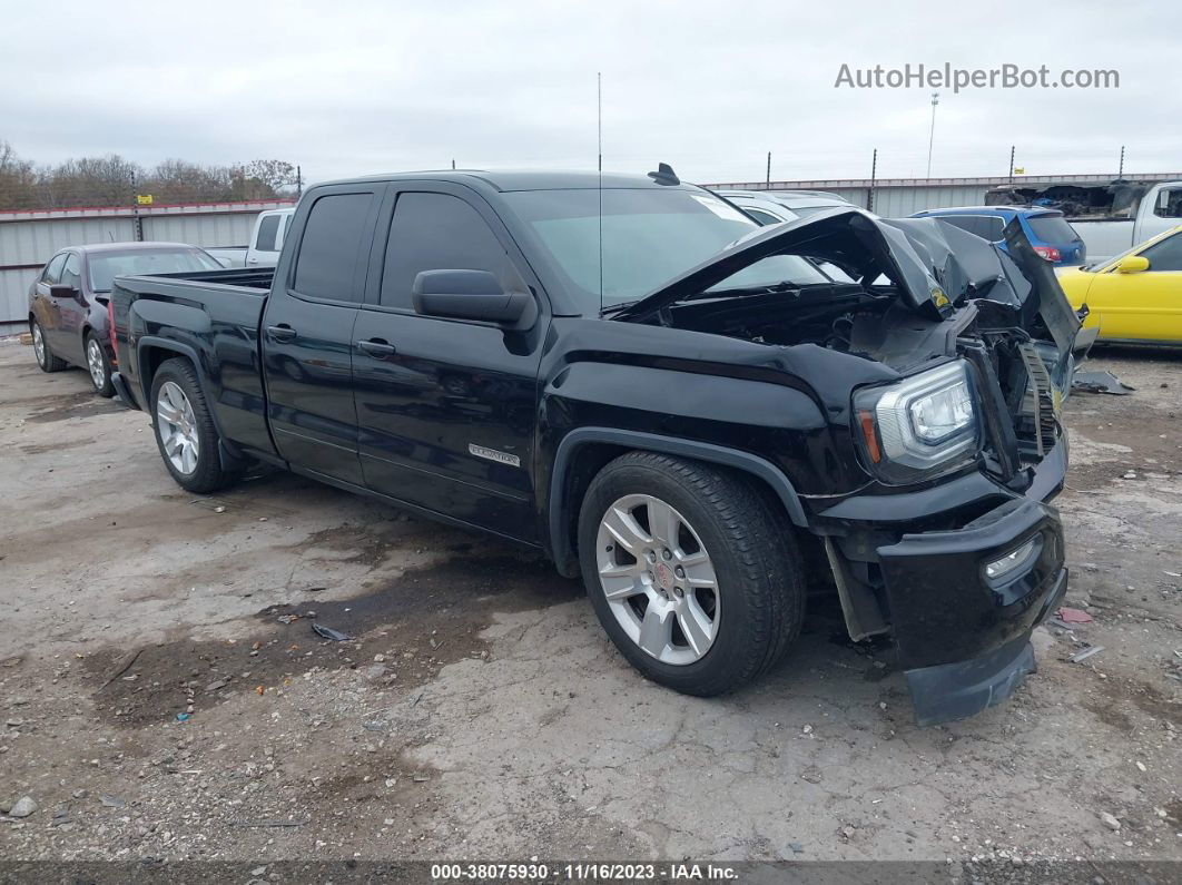
<path id="1" fill-rule="evenodd" d="M 800 496 L 788 481 L 788 477 L 771 461 L 761 458 L 758 455 L 752 455 L 739 449 L 728 449 L 714 443 L 680 440 L 673 436 L 645 434 L 638 430 L 619 430 L 602 427 L 577 428 L 566 434 L 561 442 L 558 443 L 558 451 L 554 453 L 554 469 L 550 476 L 550 544 L 551 554 L 559 570 L 567 567 L 566 564 L 571 557 L 570 541 L 565 529 L 567 502 L 563 500 L 571 457 L 579 447 L 597 442 L 624 445 L 629 449 L 643 451 L 658 451 L 664 455 L 677 455 L 678 457 L 706 461 L 742 470 L 764 481 L 772 488 L 784 505 L 784 509 L 793 525 L 801 528 L 808 527 L 804 505 L 800 503 Z"/>

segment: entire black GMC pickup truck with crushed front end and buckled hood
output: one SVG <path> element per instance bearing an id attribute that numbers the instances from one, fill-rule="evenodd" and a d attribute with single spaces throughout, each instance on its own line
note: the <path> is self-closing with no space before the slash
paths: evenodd
<path id="1" fill-rule="evenodd" d="M 273 272 L 119 278 L 116 385 L 189 490 L 265 462 L 541 551 L 678 691 L 766 671 L 827 587 L 930 723 L 1013 691 L 1067 581 L 1080 324 L 1007 245 L 759 227 L 667 167 L 332 183 Z"/>

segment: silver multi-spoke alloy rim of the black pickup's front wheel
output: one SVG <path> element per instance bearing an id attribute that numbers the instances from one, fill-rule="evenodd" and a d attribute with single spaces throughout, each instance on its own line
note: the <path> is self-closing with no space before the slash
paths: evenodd
<path id="1" fill-rule="evenodd" d="M 628 637 L 664 664 L 687 665 L 719 630 L 717 577 L 689 521 L 652 495 L 625 495 L 599 521 L 599 586 Z"/>

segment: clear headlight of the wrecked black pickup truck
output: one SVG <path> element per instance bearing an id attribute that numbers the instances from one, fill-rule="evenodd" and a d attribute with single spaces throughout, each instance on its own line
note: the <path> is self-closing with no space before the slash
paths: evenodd
<path id="1" fill-rule="evenodd" d="M 976 457 L 976 405 L 965 360 L 859 390 L 853 412 L 855 436 L 884 482 L 929 479 Z"/>

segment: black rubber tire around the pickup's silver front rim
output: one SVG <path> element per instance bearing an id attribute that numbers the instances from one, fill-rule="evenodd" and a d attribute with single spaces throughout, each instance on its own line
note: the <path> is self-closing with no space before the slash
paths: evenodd
<path id="1" fill-rule="evenodd" d="M 599 523 L 625 495 L 651 495 L 690 522 L 717 578 L 713 644 L 693 663 L 652 657 L 621 626 L 598 575 Z M 655 453 L 623 455 L 591 481 L 579 512 L 579 561 L 599 623 L 629 663 L 654 682 L 709 697 L 774 666 L 800 632 L 803 561 L 784 514 L 740 474 Z"/>

